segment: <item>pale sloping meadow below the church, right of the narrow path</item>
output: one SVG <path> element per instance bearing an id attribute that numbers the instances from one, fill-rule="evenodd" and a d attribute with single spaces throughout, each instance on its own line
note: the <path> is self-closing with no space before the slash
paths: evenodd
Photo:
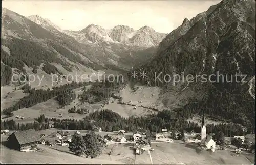
<path id="1" fill-rule="evenodd" d="M 215 152 L 201 150 L 195 144 L 152 143 L 154 164 L 252 164 L 254 155 L 232 156 L 231 151 Z M 251 162 L 249 159 L 253 159 Z"/>

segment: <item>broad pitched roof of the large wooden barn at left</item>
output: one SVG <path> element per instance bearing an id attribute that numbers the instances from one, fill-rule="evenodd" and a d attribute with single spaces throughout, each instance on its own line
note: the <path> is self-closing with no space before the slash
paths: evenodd
<path id="1" fill-rule="evenodd" d="M 29 129 L 25 131 L 16 131 L 16 132 L 13 132 L 13 134 L 20 145 L 36 142 L 40 140 L 40 134 L 37 133 L 35 129 Z"/>

